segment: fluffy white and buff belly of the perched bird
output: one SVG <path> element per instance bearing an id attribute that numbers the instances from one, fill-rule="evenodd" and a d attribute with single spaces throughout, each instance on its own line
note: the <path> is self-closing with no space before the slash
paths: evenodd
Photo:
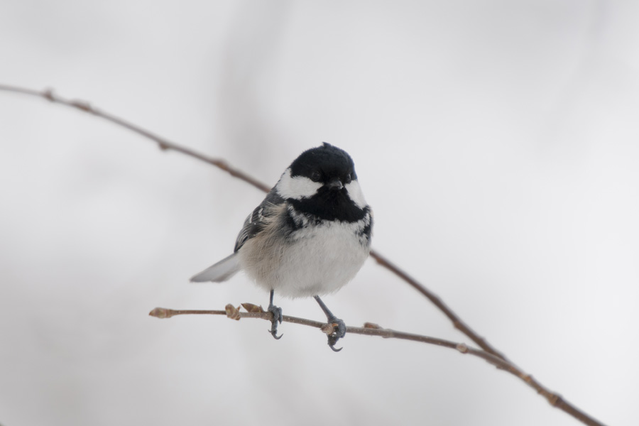
<path id="1" fill-rule="evenodd" d="M 242 246 L 240 264 L 258 285 L 279 295 L 327 295 L 353 279 L 368 257 L 358 231 L 355 224 L 327 222 L 289 239 L 262 232 Z"/>

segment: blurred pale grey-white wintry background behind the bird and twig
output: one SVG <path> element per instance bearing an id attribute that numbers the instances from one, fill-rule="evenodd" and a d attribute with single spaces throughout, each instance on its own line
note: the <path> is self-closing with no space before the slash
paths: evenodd
<path id="1" fill-rule="evenodd" d="M 12 1 L 0 82 L 54 88 L 274 184 L 353 156 L 373 246 L 552 391 L 639 422 L 639 4 Z M 0 424 L 577 425 L 455 351 L 153 307 L 266 306 L 229 254 L 263 194 L 0 92 Z M 285 314 L 322 320 L 313 300 Z M 346 324 L 469 342 L 368 261 Z"/>

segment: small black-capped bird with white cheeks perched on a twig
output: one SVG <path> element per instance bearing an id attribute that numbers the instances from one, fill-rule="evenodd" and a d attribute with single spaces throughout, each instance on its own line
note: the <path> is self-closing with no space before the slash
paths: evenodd
<path id="1" fill-rule="evenodd" d="M 334 351 L 346 334 L 344 321 L 320 299 L 354 278 L 371 251 L 373 212 L 366 204 L 351 156 L 323 143 L 304 151 L 244 221 L 231 256 L 197 273 L 192 282 L 221 283 L 245 271 L 271 292 L 269 332 L 279 339 L 282 308 L 273 294 L 315 297 L 334 324 L 328 344 Z"/>

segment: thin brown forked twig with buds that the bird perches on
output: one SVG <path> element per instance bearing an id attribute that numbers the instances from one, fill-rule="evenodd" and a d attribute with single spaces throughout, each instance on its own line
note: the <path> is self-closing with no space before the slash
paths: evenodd
<path id="1" fill-rule="evenodd" d="M 191 150 L 189 148 L 185 148 L 185 147 L 180 146 L 180 145 L 178 145 L 176 143 L 168 141 L 167 139 L 162 138 L 162 137 L 160 137 L 158 135 L 155 135 L 154 133 L 151 133 L 150 131 L 142 129 L 140 126 L 136 126 L 135 124 L 131 124 L 129 121 L 125 121 L 124 119 L 120 119 L 119 117 L 116 117 L 114 115 L 108 114 L 107 112 L 101 111 L 99 109 L 96 109 L 96 108 L 92 107 L 92 105 L 89 104 L 89 102 L 85 102 L 85 101 L 77 100 L 77 99 L 65 99 L 65 98 L 62 98 L 62 97 L 58 96 L 58 94 L 55 94 L 52 89 L 45 89 L 45 90 L 42 90 L 42 91 L 38 91 L 38 90 L 34 90 L 34 89 L 26 89 L 26 88 L 23 88 L 23 87 L 16 87 L 16 86 L 11 86 L 11 85 L 6 85 L 6 84 L 0 84 L 0 90 L 5 91 L 5 92 L 14 92 L 14 93 L 20 93 L 20 94 L 28 94 L 28 95 L 35 96 L 35 97 L 41 97 L 41 98 L 47 99 L 48 101 L 53 102 L 55 104 L 62 104 L 62 105 L 65 105 L 67 107 L 72 107 L 72 108 L 75 108 L 75 109 L 79 109 L 80 111 L 84 111 L 86 113 L 93 114 L 94 116 L 98 116 L 98 117 L 100 117 L 102 119 L 105 119 L 107 121 L 111 121 L 114 124 L 122 126 L 122 127 L 126 128 L 126 129 L 134 131 L 134 132 L 136 132 L 136 133 L 138 133 L 138 134 L 140 134 L 142 136 L 145 136 L 146 138 L 151 139 L 151 141 L 154 141 L 155 143 L 157 143 L 158 147 L 160 149 L 162 149 L 163 151 L 176 151 L 178 153 L 182 153 L 182 154 L 188 155 L 188 156 L 190 156 L 192 158 L 197 158 L 198 160 L 204 161 L 204 163 L 209 163 L 209 164 L 214 165 L 215 167 L 217 167 L 219 169 L 224 170 L 226 173 L 229 173 L 234 178 L 238 178 L 238 179 L 244 180 L 244 182 L 247 182 L 250 185 L 253 185 L 253 187 L 258 188 L 259 190 L 262 190 L 263 192 L 268 192 L 269 190 L 271 190 L 271 187 L 269 187 L 268 185 L 263 184 L 259 180 L 256 180 L 255 178 L 253 178 L 250 175 L 242 172 L 241 170 L 238 170 L 236 168 L 231 167 L 224 160 L 220 160 L 219 158 L 209 157 L 207 155 L 198 153 L 197 151 L 193 151 L 193 150 Z M 437 306 L 437 308 L 439 308 L 439 310 L 444 312 L 444 315 L 446 315 L 449 318 L 449 320 L 452 321 L 452 323 L 453 323 L 455 328 L 459 329 L 459 331 L 461 331 L 462 333 L 466 334 L 467 337 L 469 337 L 473 342 L 475 342 L 477 345 L 479 345 L 479 347 L 481 347 L 481 349 L 483 349 L 483 351 L 479 351 L 477 349 L 467 348 L 469 351 L 471 351 L 470 352 L 471 354 L 474 354 L 476 356 L 480 356 L 481 358 L 486 359 L 486 361 L 490 362 L 491 364 L 496 365 L 499 368 L 503 368 L 504 370 L 506 370 L 506 371 L 508 371 L 510 373 L 513 373 L 515 376 L 518 376 L 523 381 L 528 383 L 529 386 L 531 386 L 532 388 L 535 388 L 537 393 L 539 393 L 540 395 L 544 396 L 548 400 L 550 405 L 552 405 L 553 407 L 559 408 L 559 410 L 563 410 L 564 412 L 568 413 L 569 415 L 572 415 L 573 417 L 575 417 L 577 420 L 580 420 L 584 424 L 589 425 L 589 426 L 603 426 L 602 423 L 598 422 L 597 420 L 594 420 L 594 418 L 590 417 L 589 415 L 586 415 L 586 413 L 584 413 L 581 410 L 579 410 L 578 408 L 574 407 L 574 405 L 572 405 L 571 403 L 568 403 L 566 400 L 561 398 L 559 395 L 557 395 L 555 393 L 552 393 L 551 391 L 547 390 L 547 388 L 545 388 L 540 383 L 535 381 L 535 379 L 533 379 L 532 376 L 523 373 L 523 371 L 521 371 L 518 367 L 516 367 L 515 364 L 511 363 L 510 361 L 508 361 L 508 359 L 506 359 L 506 356 L 501 354 L 501 352 L 499 352 L 497 349 L 495 349 L 493 346 L 491 346 L 491 344 L 488 344 L 488 342 L 486 342 L 486 339 L 484 339 L 483 337 L 479 336 L 479 334 L 474 332 L 474 330 L 471 329 L 471 327 L 469 327 L 466 323 L 461 321 L 459 316 L 457 316 L 457 314 L 455 314 L 449 307 L 447 307 L 447 305 L 445 305 L 444 302 L 442 302 L 442 300 L 439 299 L 439 297 L 437 295 L 435 295 L 435 293 L 432 293 L 424 285 L 422 285 L 421 283 L 417 282 L 417 280 L 415 280 L 414 278 L 411 278 L 410 275 L 408 275 L 408 273 L 405 273 L 403 270 L 398 268 L 398 266 L 395 266 L 393 263 L 391 263 L 391 261 L 389 261 L 387 258 L 382 256 L 377 251 L 371 251 L 371 257 L 374 258 L 379 265 L 381 265 L 384 268 L 388 269 L 388 271 L 391 271 L 392 273 L 397 275 L 399 278 L 404 280 L 406 283 L 411 285 L 413 288 L 415 288 L 417 291 L 422 293 L 422 295 L 427 297 L 433 304 L 435 304 L 435 306 Z M 163 309 L 163 308 L 156 308 L 156 309 Z M 155 312 L 155 310 L 153 310 L 152 313 L 153 312 Z M 175 311 L 175 310 L 165 310 L 165 312 L 171 312 L 171 315 L 169 315 L 169 316 L 195 314 L 195 313 L 207 313 L 209 315 L 211 315 L 211 314 L 212 315 L 226 315 L 226 312 L 224 312 L 224 311 Z M 217 312 L 224 312 L 224 313 L 220 314 L 220 313 L 217 313 Z M 251 312 L 247 312 L 247 313 L 251 313 Z M 246 315 L 246 313 L 241 313 L 241 312 L 240 312 L 240 314 L 241 315 Z M 270 315 L 270 314 L 266 314 L 266 315 Z M 262 316 L 256 316 L 256 317 L 262 317 Z M 289 319 L 288 322 L 296 322 L 297 320 L 302 320 L 302 319 L 295 319 L 294 317 L 285 317 L 285 321 L 287 321 L 286 318 Z M 304 320 L 304 321 L 310 321 L 310 320 Z M 298 324 L 302 324 L 302 322 L 297 322 L 297 323 Z M 323 323 L 317 323 L 317 324 L 323 324 Z M 313 324 L 307 323 L 306 325 L 311 325 L 312 327 L 317 327 L 317 324 L 315 324 L 315 322 L 313 322 Z M 393 330 L 388 330 L 388 329 L 368 329 L 368 328 L 359 328 L 359 327 L 347 327 L 347 330 L 348 330 L 348 332 L 351 332 L 351 333 L 354 333 L 354 334 L 368 334 L 368 335 L 376 335 L 376 336 L 382 336 L 382 337 L 394 337 L 394 338 L 397 338 L 397 339 L 417 340 L 418 342 L 425 342 L 425 343 L 430 343 L 430 344 L 437 344 L 437 343 L 434 343 L 435 340 L 437 340 L 439 342 L 447 342 L 447 341 L 443 341 L 443 340 L 440 340 L 440 339 L 435 339 L 432 342 L 426 342 L 423 339 L 433 339 L 433 338 L 421 336 L 421 337 L 419 337 L 419 339 L 417 339 L 418 336 L 416 334 L 408 334 L 408 333 L 403 333 L 403 332 L 394 332 Z M 368 330 L 368 331 L 362 332 L 362 330 Z M 390 333 L 390 334 L 383 335 L 383 334 L 381 334 L 382 332 L 380 332 L 380 331 L 371 332 L 371 330 L 386 330 L 386 333 Z M 391 335 L 391 334 L 393 334 L 393 335 Z M 399 336 L 402 336 L 402 337 L 399 337 Z M 413 338 L 409 338 L 411 336 Z M 455 344 L 453 342 L 448 342 L 447 344 L 452 344 L 452 345 L 454 345 L 455 349 L 459 350 L 459 348 L 457 347 L 457 344 Z M 453 347 L 453 346 L 447 346 L 447 344 L 441 344 L 440 346 Z M 464 346 L 464 347 L 466 347 L 466 346 Z M 482 354 L 482 355 L 479 355 L 479 354 Z M 497 360 L 499 360 L 499 364 L 496 363 Z"/>

